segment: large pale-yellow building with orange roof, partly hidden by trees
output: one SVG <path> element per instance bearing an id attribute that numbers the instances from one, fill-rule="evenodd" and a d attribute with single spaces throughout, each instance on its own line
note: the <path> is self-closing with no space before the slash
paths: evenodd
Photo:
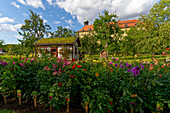
<path id="1" fill-rule="evenodd" d="M 118 26 L 121 28 L 122 31 L 124 31 L 124 34 L 122 36 L 123 37 L 127 36 L 126 30 L 128 31 L 131 27 L 136 26 L 137 22 L 138 22 L 138 20 L 136 20 L 136 19 L 119 21 Z M 84 21 L 84 26 L 76 32 L 77 36 L 82 38 L 83 35 L 87 35 L 87 34 L 89 34 L 89 32 L 94 32 L 93 25 L 88 25 L 88 23 L 89 23 L 88 20 Z"/>

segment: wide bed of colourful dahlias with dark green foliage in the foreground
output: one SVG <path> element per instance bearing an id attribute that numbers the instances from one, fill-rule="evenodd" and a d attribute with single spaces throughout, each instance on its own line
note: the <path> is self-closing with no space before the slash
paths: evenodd
<path id="1" fill-rule="evenodd" d="M 111 62 L 10 58 L 0 60 L 0 69 L 1 94 L 9 98 L 33 98 L 58 110 L 81 104 L 93 113 L 168 112 L 169 67 L 156 60 L 128 64 L 117 58 Z"/>

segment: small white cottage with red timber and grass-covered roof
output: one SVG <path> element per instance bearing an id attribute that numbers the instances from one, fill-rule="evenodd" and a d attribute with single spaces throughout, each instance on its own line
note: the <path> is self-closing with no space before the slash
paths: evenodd
<path id="1" fill-rule="evenodd" d="M 51 53 L 51 56 L 62 57 L 61 49 L 70 50 L 67 60 L 79 59 L 80 40 L 79 37 L 62 37 L 62 38 L 42 38 L 34 43 L 37 46 L 39 56 L 42 52 Z"/>

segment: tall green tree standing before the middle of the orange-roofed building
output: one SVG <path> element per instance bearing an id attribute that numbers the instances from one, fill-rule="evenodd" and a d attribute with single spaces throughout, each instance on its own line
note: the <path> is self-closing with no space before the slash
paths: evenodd
<path id="1" fill-rule="evenodd" d="M 104 15 L 99 14 L 99 19 L 95 19 L 94 31 L 97 33 L 98 39 L 101 41 L 103 47 L 105 46 L 108 52 L 108 45 L 113 43 L 113 41 L 118 42 L 119 36 L 122 34 L 120 28 L 117 24 L 117 15 L 109 14 L 108 11 L 104 11 Z"/>

